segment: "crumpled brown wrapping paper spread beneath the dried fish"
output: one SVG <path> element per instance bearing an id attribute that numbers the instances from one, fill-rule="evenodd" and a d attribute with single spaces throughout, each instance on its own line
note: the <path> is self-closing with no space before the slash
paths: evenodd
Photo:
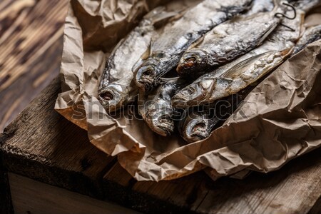
<path id="1" fill-rule="evenodd" d="M 117 155 L 137 180 L 169 180 L 203 168 L 213 179 L 245 169 L 266 173 L 321 145 L 321 41 L 277 68 L 203 141 L 158 136 L 127 111 L 108 116 L 96 98 L 106 52 L 161 2 L 71 1 L 55 109 L 86 129 L 93 145 Z"/>

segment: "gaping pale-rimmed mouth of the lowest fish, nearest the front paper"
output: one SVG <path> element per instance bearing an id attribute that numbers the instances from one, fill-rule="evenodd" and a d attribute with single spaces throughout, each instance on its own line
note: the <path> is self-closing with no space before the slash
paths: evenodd
<path id="1" fill-rule="evenodd" d="M 208 124 L 205 120 L 191 120 L 185 125 L 185 141 L 189 143 L 201 141 L 210 136 Z"/>

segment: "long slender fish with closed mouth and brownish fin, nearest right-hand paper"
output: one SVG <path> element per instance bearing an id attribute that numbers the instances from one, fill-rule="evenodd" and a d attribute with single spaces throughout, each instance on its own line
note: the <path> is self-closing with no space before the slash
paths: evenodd
<path id="1" fill-rule="evenodd" d="M 186 108 L 204 102 L 213 102 L 238 93 L 241 89 L 258 81 L 292 54 L 295 43 L 300 37 L 303 17 L 304 12 L 297 11 L 297 17 L 294 20 L 283 21 L 295 31 L 285 26 L 277 26 L 277 29 L 258 48 L 225 66 L 200 76 L 173 96 L 172 105 Z"/>

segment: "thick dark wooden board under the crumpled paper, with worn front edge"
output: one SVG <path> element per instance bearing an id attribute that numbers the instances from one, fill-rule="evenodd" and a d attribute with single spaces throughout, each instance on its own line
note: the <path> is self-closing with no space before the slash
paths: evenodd
<path id="1" fill-rule="evenodd" d="M 244 180 L 214 182 L 199 172 L 137 182 L 115 158 L 93 147 L 86 131 L 54 111 L 59 88 L 56 78 L 1 134 L 2 164 L 9 171 L 144 213 L 308 213 L 312 207 L 321 212 L 315 205 L 321 195 L 321 148 L 281 170 Z"/>

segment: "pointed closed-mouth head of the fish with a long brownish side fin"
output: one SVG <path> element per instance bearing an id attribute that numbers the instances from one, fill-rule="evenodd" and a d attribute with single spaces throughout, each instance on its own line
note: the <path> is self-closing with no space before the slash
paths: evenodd
<path id="1" fill-rule="evenodd" d="M 191 106 L 199 106 L 206 101 L 215 88 L 215 80 L 212 78 L 204 78 L 195 81 L 189 86 L 178 91 L 172 98 L 171 103 L 176 108 L 187 108 Z"/>

